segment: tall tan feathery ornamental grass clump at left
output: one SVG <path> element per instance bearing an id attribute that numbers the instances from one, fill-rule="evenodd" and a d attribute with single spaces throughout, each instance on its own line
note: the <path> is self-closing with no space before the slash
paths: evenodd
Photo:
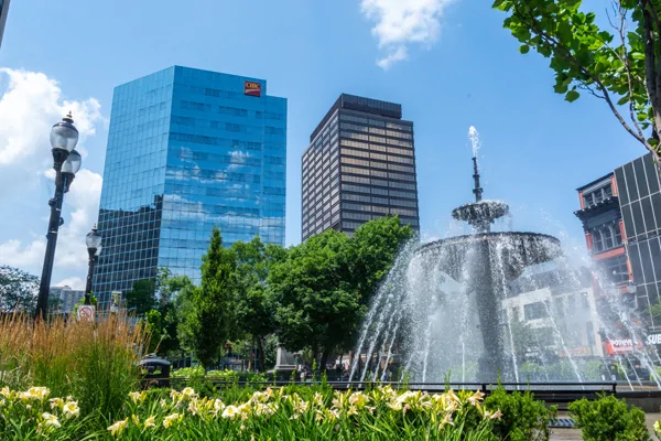
<path id="1" fill-rule="evenodd" d="M 85 415 L 112 418 L 139 387 L 136 363 L 148 338 L 121 314 L 96 323 L 1 315 L 0 387 L 45 385 L 54 396 L 76 397 Z"/>

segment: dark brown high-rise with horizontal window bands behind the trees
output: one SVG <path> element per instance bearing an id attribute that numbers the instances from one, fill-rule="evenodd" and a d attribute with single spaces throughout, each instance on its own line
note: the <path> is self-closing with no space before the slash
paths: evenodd
<path id="1" fill-rule="evenodd" d="M 302 240 L 388 215 L 420 230 L 413 122 L 399 104 L 343 94 L 302 157 Z"/>

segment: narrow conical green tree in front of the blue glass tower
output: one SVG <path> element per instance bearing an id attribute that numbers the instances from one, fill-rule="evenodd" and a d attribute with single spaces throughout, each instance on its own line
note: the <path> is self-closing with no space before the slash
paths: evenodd
<path id="1" fill-rule="evenodd" d="M 183 326 L 197 359 L 212 367 L 234 322 L 228 305 L 235 289 L 234 254 L 223 247 L 220 230 L 214 228 L 209 249 L 202 258 L 202 286 L 193 294 L 193 311 Z"/>

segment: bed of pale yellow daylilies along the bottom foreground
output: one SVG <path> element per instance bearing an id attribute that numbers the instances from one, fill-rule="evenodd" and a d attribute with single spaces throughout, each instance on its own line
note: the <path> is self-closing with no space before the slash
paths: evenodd
<path id="1" fill-rule="evenodd" d="M 365 392 L 281 388 L 225 402 L 185 388 L 169 395 L 131 392 L 123 418 L 101 426 L 100 416 L 99 424 L 83 424 L 85 416 L 72 398 L 48 398 L 45 388 L 6 388 L 0 433 L 3 440 L 495 440 L 492 426 L 501 413 L 485 408 L 483 397 L 390 387 Z"/>

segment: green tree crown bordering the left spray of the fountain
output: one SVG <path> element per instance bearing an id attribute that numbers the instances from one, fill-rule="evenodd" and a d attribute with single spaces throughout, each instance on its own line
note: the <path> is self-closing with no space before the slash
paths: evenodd
<path id="1" fill-rule="evenodd" d="M 399 216 L 381 217 L 356 230 L 349 249 L 361 304 L 369 304 L 402 247 L 414 236 L 413 228 L 402 225 Z"/>

